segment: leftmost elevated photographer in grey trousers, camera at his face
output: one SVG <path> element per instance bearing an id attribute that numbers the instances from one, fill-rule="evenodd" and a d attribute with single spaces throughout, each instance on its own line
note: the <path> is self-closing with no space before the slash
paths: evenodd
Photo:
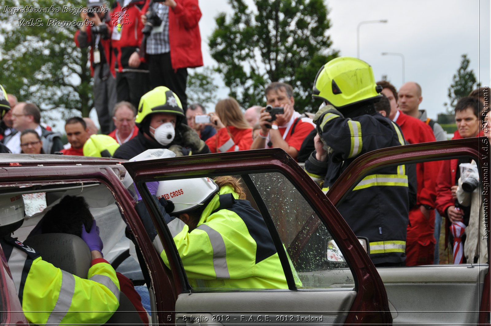
<path id="1" fill-rule="evenodd" d="M 94 107 L 103 134 L 109 134 L 110 110 L 116 104 L 116 81 L 111 60 L 109 10 L 101 0 L 88 0 L 87 10 L 80 13 L 82 21 L 89 25 L 75 32 L 75 44 L 79 48 L 90 46 L 90 73 L 94 77 Z"/>

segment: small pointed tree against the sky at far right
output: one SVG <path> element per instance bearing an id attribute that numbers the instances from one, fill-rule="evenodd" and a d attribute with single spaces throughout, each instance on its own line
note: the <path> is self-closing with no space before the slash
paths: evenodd
<path id="1" fill-rule="evenodd" d="M 453 113 L 453 109 L 459 99 L 468 96 L 474 88 L 481 86 L 480 82 L 476 84 L 476 75 L 472 69 L 469 70 L 469 64 L 470 60 L 467 58 L 467 54 L 462 54 L 461 65 L 457 70 L 457 74 L 454 74 L 452 78 L 452 84 L 448 87 L 450 106 L 448 103 L 443 104 L 448 113 Z"/>

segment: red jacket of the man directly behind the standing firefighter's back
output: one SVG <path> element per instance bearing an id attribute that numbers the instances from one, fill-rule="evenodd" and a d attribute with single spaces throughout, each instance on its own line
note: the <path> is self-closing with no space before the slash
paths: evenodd
<path id="1" fill-rule="evenodd" d="M 410 144 L 436 141 L 429 125 L 399 110 L 396 123 L 401 127 L 404 138 Z M 428 205 L 435 208 L 436 176 L 440 170 L 440 162 L 424 162 L 416 164 L 417 200 L 416 205 Z"/>

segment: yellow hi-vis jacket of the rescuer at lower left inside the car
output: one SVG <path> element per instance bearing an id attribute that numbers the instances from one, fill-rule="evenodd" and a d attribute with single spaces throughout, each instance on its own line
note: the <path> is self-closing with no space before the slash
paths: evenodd
<path id="1" fill-rule="evenodd" d="M 42 260 L 10 237 L 0 244 L 26 319 L 36 325 L 102 325 L 119 306 L 119 281 L 105 259 L 94 259 L 87 279 Z"/>

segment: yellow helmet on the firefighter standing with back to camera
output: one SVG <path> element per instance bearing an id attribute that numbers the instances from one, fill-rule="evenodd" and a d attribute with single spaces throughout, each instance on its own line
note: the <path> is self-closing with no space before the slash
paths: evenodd
<path id="1" fill-rule="evenodd" d="M 312 97 L 336 108 L 381 97 L 372 67 L 363 60 L 342 56 L 327 62 L 317 73 Z"/>

